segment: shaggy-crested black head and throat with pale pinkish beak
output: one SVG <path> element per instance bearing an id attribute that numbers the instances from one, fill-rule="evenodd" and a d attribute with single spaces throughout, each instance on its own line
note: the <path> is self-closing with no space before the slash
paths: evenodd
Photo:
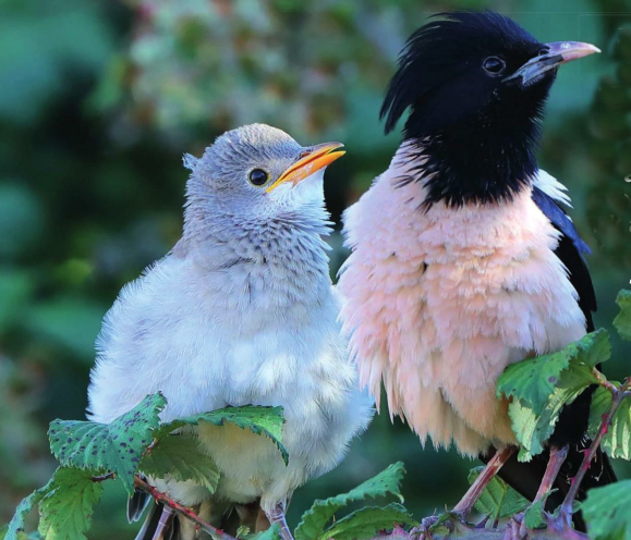
<path id="1" fill-rule="evenodd" d="M 408 40 L 384 106 L 386 132 L 410 109 L 404 136 L 427 186 L 425 205 L 510 199 L 536 173 L 539 123 L 557 68 L 597 49 L 542 44 L 507 16 L 445 13 Z"/>

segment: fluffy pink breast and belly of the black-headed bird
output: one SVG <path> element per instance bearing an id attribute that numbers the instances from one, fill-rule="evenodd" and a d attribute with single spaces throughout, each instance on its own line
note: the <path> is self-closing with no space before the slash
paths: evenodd
<path id="1" fill-rule="evenodd" d="M 510 363 L 584 333 L 558 235 L 529 189 L 511 202 L 420 209 L 395 160 L 345 216 L 340 290 L 362 383 L 422 439 L 466 454 L 513 441 L 495 382 Z"/>

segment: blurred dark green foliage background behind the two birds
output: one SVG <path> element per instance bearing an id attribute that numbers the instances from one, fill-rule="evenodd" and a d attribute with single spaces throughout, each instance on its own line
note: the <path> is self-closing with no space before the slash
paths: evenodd
<path id="1" fill-rule="evenodd" d="M 48 422 L 84 417 L 105 311 L 179 237 L 182 154 L 250 122 L 342 140 L 326 185 L 339 223 L 399 143 L 378 110 L 405 37 L 437 11 L 481 8 L 604 51 L 561 70 L 541 162 L 570 187 L 610 327 L 631 279 L 630 0 L 0 0 L 0 523 L 54 468 Z M 347 254 L 330 242 L 335 272 Z M 615 346 L 608 375 L 631 373 Z M 430 446 L 383 412 L 295 494 L 290 524 L 398 459 L 417 516 L 453 504 L 475 463 Z M 110 487 L 90 538 L 133 536 Z"/>

